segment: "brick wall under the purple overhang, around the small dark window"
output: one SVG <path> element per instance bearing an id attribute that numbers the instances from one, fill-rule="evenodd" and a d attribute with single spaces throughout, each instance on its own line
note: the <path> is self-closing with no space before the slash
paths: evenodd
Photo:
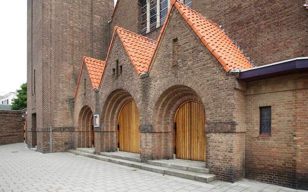
<path id="1" fill-rule="evenodd" d="M 306 73 L 247 83 L 246 178 L 307 189 L 307 88 Z M 258 137 L 264 106 L 272 110 L 270 137 Z"/>

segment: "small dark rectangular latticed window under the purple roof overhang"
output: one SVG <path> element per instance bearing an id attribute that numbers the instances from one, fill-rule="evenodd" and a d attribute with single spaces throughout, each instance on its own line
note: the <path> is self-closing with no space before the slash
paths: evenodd
<path id="1" fill-rule="evenodd" d="M 272 107 L 260 107 L 260 135 L 271 134 Z"/>

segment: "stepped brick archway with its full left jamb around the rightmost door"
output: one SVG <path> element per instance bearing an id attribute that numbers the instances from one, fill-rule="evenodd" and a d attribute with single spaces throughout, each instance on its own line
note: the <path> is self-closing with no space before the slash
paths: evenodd
<path id="1" fill-rule="evenodd" d="M 142 143 L 144 147 L 155 145 L 160 149 L 152 151 L 152 159 L 173 157 L 174 116 L 180 105 L 187 100 L 201 103 L 205 109 L 206 120 L 209 120 L 214 111 L 212 97 L 197 79 L 186 75 L 172 76 L 154 91 L 152 105 L 149 106 L 152 109 L 152 129 L 141 134 L 141 137 L 148 138 Z"/>

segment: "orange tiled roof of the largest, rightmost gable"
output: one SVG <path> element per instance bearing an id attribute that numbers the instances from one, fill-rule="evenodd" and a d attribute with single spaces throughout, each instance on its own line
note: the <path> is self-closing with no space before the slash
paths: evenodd
<path id="1" fill-rule="evenodd" d="M 253 68 L 243 53 L 237 49 L 231 39 L 219 26 L 217 26 L 216 23 L 203 17 L 195 10 L 190 9 L 188 6 L 185 6 L 183 3 L 176 0 L 171 1 L 171 7 L 169 8 L 164 26 L 160 31 L 155 50 L 157 49 L 162 34 L 164 33 L 173 6 L 179 11 L 182 17 L 192 27 L 197 36 L 209 51 L 213 53 L 227 72 L 232 69 L 244 70 Z M 152 59 L 153 58 L 151 58 L 151 60 Z"/>

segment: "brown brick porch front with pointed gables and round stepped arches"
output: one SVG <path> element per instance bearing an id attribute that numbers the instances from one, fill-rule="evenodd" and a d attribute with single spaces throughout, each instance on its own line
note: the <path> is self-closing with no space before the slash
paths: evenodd
<path id="1" fill-rule="evenodd" d="M 176 109 L 186 100 L 198 100 L 205 108 L 205 131 L 209 139 L 205 143 L 207 153 L 221 150 L 219 145 L 211 143 L 212 137 L 223 141 L 222 145 L 232 146 L 232 150 L 221 150 L 220 155 L 228 160 L 224 166 L 213 156 L 207 157 L 206 165 L 211 173 L 221 175 L 218 178 L 237 181 L 243 177 L 244 134 L 237 131 L 241 130 L 238 127 L 242 127 L 244 117 L 243 113 L 237 114 L 235 97 L 244 92 L 234 91 L 234 88 L 240 87 L 236 76 L 226 74 L 177 11 L 172 13 L 168 26 L 172 28 L 167 27 L 154 56 L 150 75 L 144 78 L 137 76 L 119 37 L 115 35 L 99 92 L 95 93 L 89 85 L 84 95 L 81 88 L 83 83 L 79 85 L 74 104 L 74 125 L 77 125 L 81 108 L 84 105 L 92 106 L 93 113 L 100 115 L 95 150 L 112 150 L 117 144 L 116 127 L 120 108 L 126 100 L 134 99 L 140 116 L 140 157 L 143 161 L 164 159 L 166 156 L 172 158 Z M 170 55 L 176 37 L 178 65 L 172 66 Z M 119 77 L 112 77 L 116 60 L 123 65 L 123 72 Z M 88 87 L 86 72 L 83 72 L 82 79 L 84 77 Z M 226 137 L 232 139 L 226 141 Z"/>

